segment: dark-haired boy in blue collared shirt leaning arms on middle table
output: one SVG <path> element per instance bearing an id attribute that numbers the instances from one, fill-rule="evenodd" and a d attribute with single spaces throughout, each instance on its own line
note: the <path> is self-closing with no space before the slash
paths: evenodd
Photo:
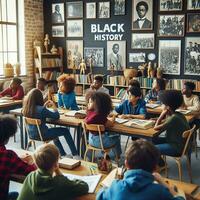
<path id="1" fill-rule="evenodd" d="M 120 118 L 138 118 L 145 119 L 146 102 L 141 98 L 141 90 L 139 87 L 131 87 L 128 90 L 128 100 L 115 107 L 115 111 Z"/>

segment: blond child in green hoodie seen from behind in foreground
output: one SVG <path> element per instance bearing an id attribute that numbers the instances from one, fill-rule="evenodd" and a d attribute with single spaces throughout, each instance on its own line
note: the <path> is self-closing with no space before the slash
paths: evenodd
<path id="1" fill-rule="evenodd" d="M 87 194 L 87 183 L 65 177 L 58 159 L 59 151 L 53 144 L 44 144 L 34 153 L 38 170 L 26 177 L 18 200 L 64 200 Z"/>

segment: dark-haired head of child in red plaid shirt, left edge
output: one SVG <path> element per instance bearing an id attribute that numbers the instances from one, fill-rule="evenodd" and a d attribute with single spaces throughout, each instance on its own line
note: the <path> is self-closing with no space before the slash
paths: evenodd
<path id="1" fill-rule="evenodd" d="M 0 115 L 0 144 L 8 143 L 9 138 L 17 132 L 17 121 L 11 115 Z"/>

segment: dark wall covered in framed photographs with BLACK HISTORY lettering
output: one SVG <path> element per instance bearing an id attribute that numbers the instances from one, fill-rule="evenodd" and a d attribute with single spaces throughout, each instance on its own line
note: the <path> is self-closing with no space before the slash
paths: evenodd
<path id="1" fill-rule="evenodd" d="M 200 0 L 44 0 L 44 30 L 69 71 L 82 58 L 116 75 L 151 61 L 166 78 L 200 80 Z"/>

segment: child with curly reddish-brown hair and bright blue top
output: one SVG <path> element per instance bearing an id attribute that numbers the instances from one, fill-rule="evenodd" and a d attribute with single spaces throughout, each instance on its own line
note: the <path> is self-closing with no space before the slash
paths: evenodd
<path id="1" fill-rule="evenodd" d="M 70 110 L 79 110 L 76 103 L 76 94 L 74 88 L 76 81 L 72 77 L 66 77 L 60 82 L 58 90 L 58 107 Z"/>

